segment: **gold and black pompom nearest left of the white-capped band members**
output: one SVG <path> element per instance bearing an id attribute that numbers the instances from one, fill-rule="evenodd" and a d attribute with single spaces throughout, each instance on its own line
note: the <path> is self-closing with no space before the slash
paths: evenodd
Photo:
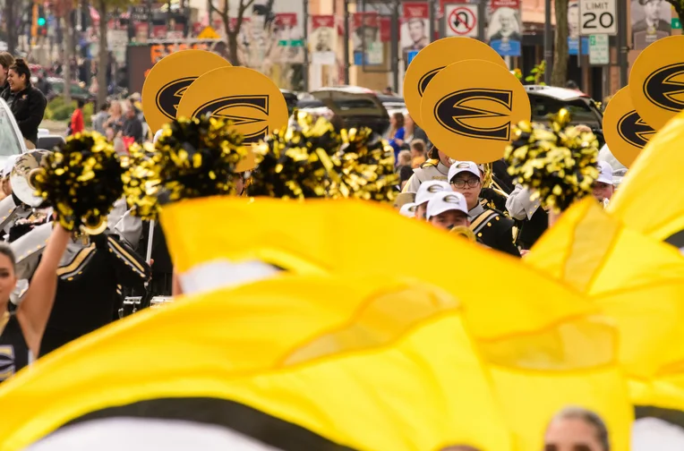
<path id="1" fill-rule="evenodd" d="M 367 127 L 343 130 L 330 197 L 391 202 L 397 197 L 394 149 Z"/>

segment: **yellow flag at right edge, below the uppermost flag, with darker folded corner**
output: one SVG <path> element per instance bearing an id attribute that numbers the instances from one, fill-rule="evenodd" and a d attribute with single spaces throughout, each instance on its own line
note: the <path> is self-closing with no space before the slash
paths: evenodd
<path id="1" fill-rule="evenodd" d="M 634 404 L 684 410 L 684 257 L 676 249 L 585 200 L 563 214 L 525 261 L 617 321 Z"/>

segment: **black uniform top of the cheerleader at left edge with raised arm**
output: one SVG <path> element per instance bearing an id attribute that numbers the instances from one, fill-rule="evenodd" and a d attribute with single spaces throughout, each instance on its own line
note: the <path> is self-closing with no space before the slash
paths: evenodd
<path id="1" fill-rule="evenodd" d="M 0 319 L 0 382 L 11 378 L 33 360 L 16 315 L 5 311 Z"/>

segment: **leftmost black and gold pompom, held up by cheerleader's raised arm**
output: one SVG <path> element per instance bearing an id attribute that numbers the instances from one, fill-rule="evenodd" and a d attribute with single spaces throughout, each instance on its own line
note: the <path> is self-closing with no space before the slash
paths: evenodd
<path id="1" fill-rule="evenodd" d="M 123 171 L 104 136 L 80 132 L 43 159 L 33 184 L 36 195 L 55 209 L 64 229 L 99 234 L 107 227 L 114 202 L 124 193 Z"/>

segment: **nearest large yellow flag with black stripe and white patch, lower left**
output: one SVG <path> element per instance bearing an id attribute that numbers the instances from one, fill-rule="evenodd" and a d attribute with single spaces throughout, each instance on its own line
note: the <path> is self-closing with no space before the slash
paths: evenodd
<path id="1" fill-rule="evenodd" d="M 132 418 L 110 438 L 128 451 L 211 432 L 188 422 L 269 450 L 513 449 L 457 301 L 397 277 L 280 276 L 142 311 L 21 371 L 0 406 L 2 451 L 55 431 L 46 449 L 100 449 L 93 430 Z"/>

